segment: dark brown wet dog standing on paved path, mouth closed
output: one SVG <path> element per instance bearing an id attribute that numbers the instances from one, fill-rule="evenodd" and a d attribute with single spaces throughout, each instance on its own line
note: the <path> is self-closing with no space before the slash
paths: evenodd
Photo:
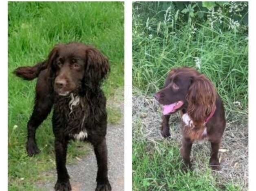
<path id="1" fill-rule="evenodd" d="M 96 191 L 110 191 L 107 168 L 106 98 L 100 86 L 110 70 L 99 50 L 82 43 L 59 44 L 48 59 L 32 67 L 19 67 L 15 74 L 25 80 L 38 77 L 35 106 L 29 119 L 26 150 L 40 150 L 35 131 L 53 109 L 53 133 L 57 167 L 56 191 L 70 191 L 66 153 L 68 141 L 92 143 L 97 159 Z"/>

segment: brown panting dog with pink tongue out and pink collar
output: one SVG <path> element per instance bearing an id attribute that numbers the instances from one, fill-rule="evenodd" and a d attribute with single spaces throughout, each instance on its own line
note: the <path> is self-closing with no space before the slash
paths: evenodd
<path id="1" fill-rule="evenodd" d="M 181 111 L 182 149 L 185 166 L 191 168 L 190 151 L 193 141 L 208 140 L 212 145 L 210 165 L 219 169 L 218 150 L 225 130 L 225 111 L 212 82 L 195 69 L 172 69 L 164 88 L 154 95 L 163 104 L 161 134 L 169 137 L 170 114 Z"/>

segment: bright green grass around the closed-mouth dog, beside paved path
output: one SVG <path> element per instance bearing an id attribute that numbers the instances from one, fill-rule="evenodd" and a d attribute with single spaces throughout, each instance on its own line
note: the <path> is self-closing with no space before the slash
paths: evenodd
<path id="1" fill-rule="evenodd" d="M 44 171 L 55 169 L 51 116 L 40 126 L 36 139 L 41 153 L 28 157 L 26 123 L 33 109 L 35 82 L 23 81 L 16 67 L 42 61 L 57 43 L 91 44 L 108 56 L 111 72 L 104 83 L 107 98 L 124 86 L 124 4 L 121 2 L 9 2 L 8 84 L 9 190 L 38 190 Z M 123 98 L 121 98 L 123 99 Z M 108 107 L 108 122 L 118 123 L 119 109 Z M 17 128 L 14 128 L 17 125 Z M 83 143 L 68 148 L 68 163 L 88 152 Z M 54 177 L 55 178 L 55 177 Z M 55 180 L 54 180 L 55 181 Z"/>

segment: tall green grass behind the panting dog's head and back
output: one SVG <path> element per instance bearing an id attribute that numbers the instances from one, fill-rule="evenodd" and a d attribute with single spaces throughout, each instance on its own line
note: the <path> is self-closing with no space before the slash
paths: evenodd
<path id="1" fill-rule="evenodd" d="M 163 16 L 160 16 L 165 10 L 156 12 L 156 6 L 157 3 L 134 6 L 133 85 L 152 95 L 163 87 L 172 68 L 194 67 L 214 82 L 227 109 L 231 109 L 237 101 L 246 109 L 247 33 L 236 33 L 231 29 L 215 30 L 207 22 L 200 23 L 197 20 L 165 24 Z M 136 7 L 139 7 L 138 11 Z M 192 26 L 197 29 L 194 33 L 191 32 Z M 166 28 L 169 31 L 167 37 Z"/>

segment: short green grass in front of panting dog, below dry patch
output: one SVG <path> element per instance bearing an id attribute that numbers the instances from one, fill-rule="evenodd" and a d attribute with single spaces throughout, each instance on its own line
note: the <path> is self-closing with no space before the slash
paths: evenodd
<path id="1" fill-rule="evenodd" d="M 234 184 L 219 184 L 210 169 L 183 172 L 179 145 L 170 141 L 133 143 L 134 191 L 241 191 Z"/>

